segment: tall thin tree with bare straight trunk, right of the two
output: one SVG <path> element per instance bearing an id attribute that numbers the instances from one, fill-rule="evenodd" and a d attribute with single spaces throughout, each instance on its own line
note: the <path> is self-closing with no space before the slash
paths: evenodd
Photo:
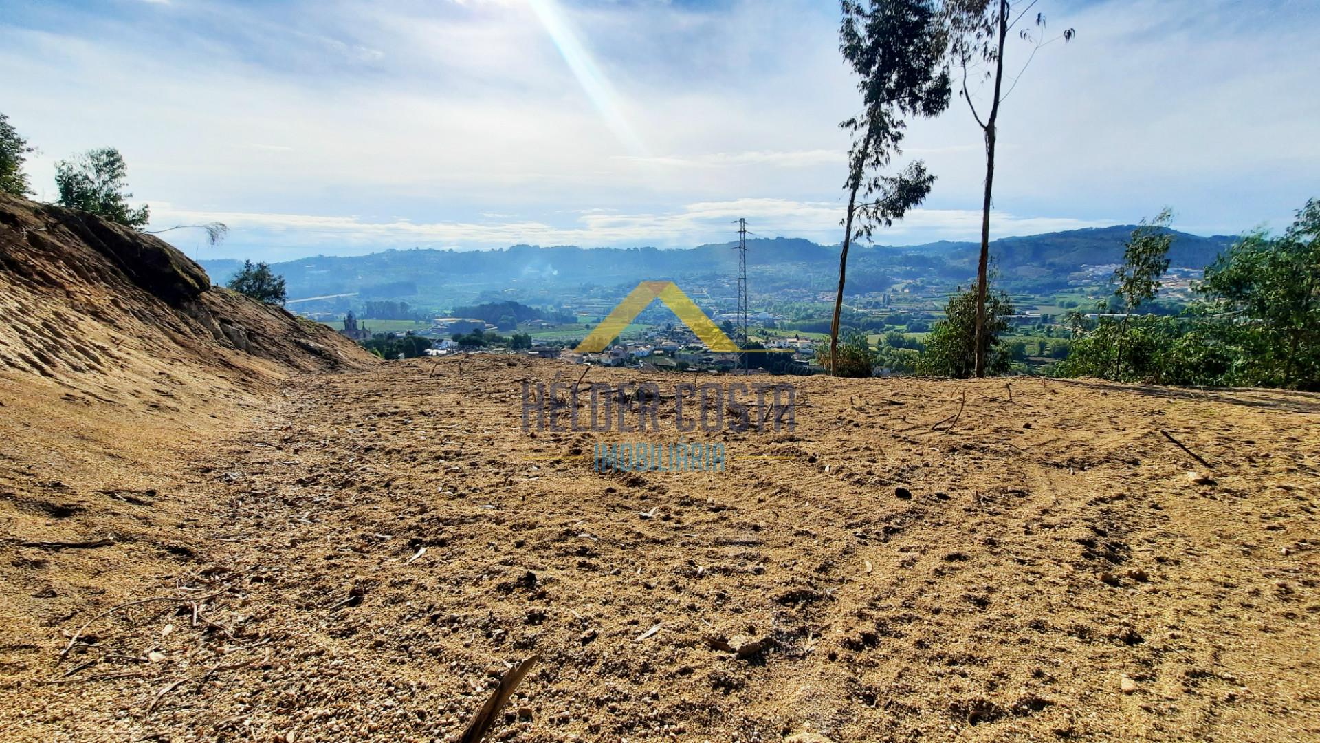
<path id="1" fill-rule="evenodd" d="M 1063 38 L 1067 44 L 1076 36 L 1076 30 L 1067 29 L 1053 38 L 1045 38 L 1045 16 L 1036 13 L 1036 30 L 1020 29 L 1018 34 L 1032 44 L 1031 54 L 1023 63 L 1022 70 L 1012 79 L 1008 90 L 1003 90 L 1003 48 L 1008 40 L 1008 33 L 1018 26 L 1039 0 L 945 0 L 944 13 L 948 21 L 949 50 L 953 61 L 962 69 L 962 90 L 958 95 L 968 102 L 972 116 L 977 120 L 985 135 L 986 147 L 986 181 L 985 198 L 981 202 L 981 258 L 977 262 L 977 357 L 975 374 L 983 377 L 986 373 L 986 272 L 990 264 L 990 204 L 994 192 L 994 156 L 999 123 L 999 104 L 1012 93 L 1027 71 L 1027 66 L 1035 59 L 1040 48 Z M 1014 5 L 1024 5 L 1020 9 Z M 968 90 L 969 67 L 983 63 L 982 74 L 985 79 L 993 79 L 994 85 L 990 102 L 983 103 L 985 115 L 977 110 L 972 93 Z"/>

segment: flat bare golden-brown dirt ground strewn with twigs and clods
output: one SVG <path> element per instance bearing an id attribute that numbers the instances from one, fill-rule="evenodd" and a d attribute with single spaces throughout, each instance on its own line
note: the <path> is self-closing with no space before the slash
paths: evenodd
<path id="1" fill-rule="evenodd" d="M 444 740 L 539 654 L 494 739 L 1320 739 L 1320 397 L 814 377 L 725 472 L 601 473 L 678 435 L 524 432 L 579 372 L 0 375 L 0 736 Z"/>

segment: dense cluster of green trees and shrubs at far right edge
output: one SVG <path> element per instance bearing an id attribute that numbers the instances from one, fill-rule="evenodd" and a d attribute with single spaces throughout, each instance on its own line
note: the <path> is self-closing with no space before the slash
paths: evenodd
<path id="1" fill-rule="evenodd" d="M 1156 219 L 1167 221 L 1167 212 Z M 1320 202 L 1282 235 L 1257 231 L 1205 268 L 1197 301 L 1176 316 L 1137 315 L 1159 290 L 1167 241 L 1143 225 L 1115 271 L 1114 297 L 1088 320 L 1072 312 L 1064 377 L 1159 385 L 1320 389 Z"/>

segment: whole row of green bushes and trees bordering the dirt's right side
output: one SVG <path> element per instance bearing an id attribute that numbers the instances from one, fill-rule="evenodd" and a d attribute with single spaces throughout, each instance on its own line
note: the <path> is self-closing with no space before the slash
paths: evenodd
<path id="1" fill-rule="evenodd" d="M 1067 338 L 1035 341 L 1044 372 L 1119 382 L 1180 386 L 1262 386 L 1320 390 L 1320 201 L 1307 201 L 1280 235 L 1251 233 L 1229 246 L 1193 286 L 1196 300 L 1181 311 L 1155 301 L 1170 266 L 1172 242 L 1164 210 L 1143 221 L 1123 246 L 1111 278 L 1113 295 L 1093 312 L 1064 316 Z M 887 333 L 874 348 L 865 331 L 841 337 L 836 373 L 869 377 L 896 373 L 972 377 L 975 373 L 974 288 L 949 297 L 945 317 L 924 341 Z M 986 292 L 986 373 L 1020 372 L 1032 341 L 1010 341 L 1012 300 Z M 1090 315 L 1090 317 L 1088 317 Z M 829 362 L 821 349 L 817 362 Z"/>

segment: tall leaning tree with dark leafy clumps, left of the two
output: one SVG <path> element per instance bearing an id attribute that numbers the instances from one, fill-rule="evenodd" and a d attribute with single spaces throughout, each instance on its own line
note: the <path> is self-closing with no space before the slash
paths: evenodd
<path id="1" fill-rule="evenodd" d="M 858 75 L 863 106 L 859 115 L 840 124 L 853 134 L 853 145 L 843 184 L 847 213 L 830 323 L 830 374 L 838 358 L 838 320 L 853 239 L 870 239 L 876 225 L 887 227 L 903 218 L 935 182 L 920 160 L 892 176 L 880 171 L 902 153 L 904 116 L 933 116 L 948 108 L 952 95 L 944 54 L 948 37 L 933 0 L 842 0 L 841 8 L 840 50 Z"/>

